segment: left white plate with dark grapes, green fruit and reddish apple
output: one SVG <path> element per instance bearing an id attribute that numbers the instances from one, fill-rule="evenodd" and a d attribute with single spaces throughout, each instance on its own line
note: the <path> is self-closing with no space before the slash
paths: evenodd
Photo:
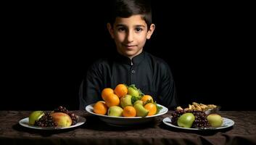
<path id="1" fill-rule="evenodd" d="M 75 128 L 86 123 L 86 118 L 75 115 L 65 107 L 58 107 L 51 112 L 33 111 L 28 117 L 19 121 L 25 128 L 38 130 L 57 130 Z"/>

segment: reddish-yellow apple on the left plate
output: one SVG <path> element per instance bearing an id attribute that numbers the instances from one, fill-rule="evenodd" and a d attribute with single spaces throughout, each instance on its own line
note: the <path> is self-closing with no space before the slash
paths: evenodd
<path id="1" fill-rule="evenodd" d="M 66 113 L 62 112 L 54 112 L 51 113 L 51 116 L 53 117 L 54 121 L 57 123 L 58 127 L 69 127 L 72 124 L 72 119 L 70 115 L 67 115 Z"/>

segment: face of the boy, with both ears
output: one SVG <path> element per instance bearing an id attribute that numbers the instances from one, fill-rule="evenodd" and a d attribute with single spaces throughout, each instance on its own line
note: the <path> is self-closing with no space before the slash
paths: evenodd
<path id="1" fill-rule="evenodd" d="M 140 14 L 128 18 L 117 17 L 113 27 L 108 23 L 107 28 L 115 40 L 117 51 L 130 59 L 141 53 L 146 39 L 154 32 L 154 24 L 147 30 Z"/>

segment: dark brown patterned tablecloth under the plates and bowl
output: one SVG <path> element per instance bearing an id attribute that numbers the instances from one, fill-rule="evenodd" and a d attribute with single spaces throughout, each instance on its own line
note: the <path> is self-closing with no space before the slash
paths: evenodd
<path id="1" fill-rule="evenodd" d="M 35 130 L 19 125 L 29 111 L 0 111 L 0 144 L 256 144 L 255 111 L 222 111 L 235 125 L 223 130 L 181 130 L 162 123 L 172 111 L 131 128 L 113 127 L 86 111 L 86 123 L 65 130 Z"/>

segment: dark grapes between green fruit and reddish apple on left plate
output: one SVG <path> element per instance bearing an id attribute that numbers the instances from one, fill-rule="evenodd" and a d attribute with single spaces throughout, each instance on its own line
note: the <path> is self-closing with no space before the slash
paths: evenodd
<path id="1" fill-rule="evenodd" d="M 57 123 L 53 120 L 48 112 L 44 112 L 44 116 L 42 116 L 39 120 L 36 120 L 35 125 L 40 127 L 57 127 Z"/>

